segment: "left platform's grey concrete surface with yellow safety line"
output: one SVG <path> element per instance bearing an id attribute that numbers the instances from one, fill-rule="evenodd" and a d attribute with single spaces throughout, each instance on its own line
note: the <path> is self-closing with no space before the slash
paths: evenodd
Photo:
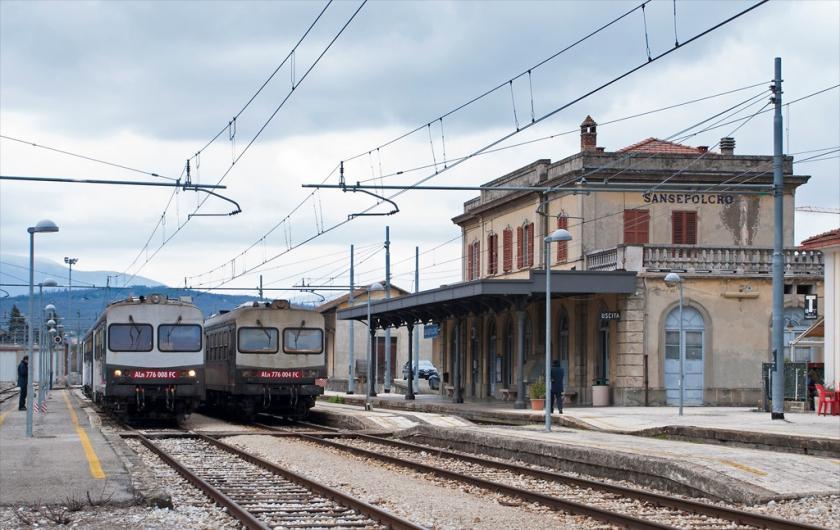
<path id="1" fill-rule="evenodd" d="M 72 391 L 50 393 L 48 412 L 34 414 L 32 438 L 26 436 L 26 411 L 13 401 L 0 411 L 0 505 L 87 502 L 88 495 L 112 504 L 133 501 L 122 460 Z"/>

